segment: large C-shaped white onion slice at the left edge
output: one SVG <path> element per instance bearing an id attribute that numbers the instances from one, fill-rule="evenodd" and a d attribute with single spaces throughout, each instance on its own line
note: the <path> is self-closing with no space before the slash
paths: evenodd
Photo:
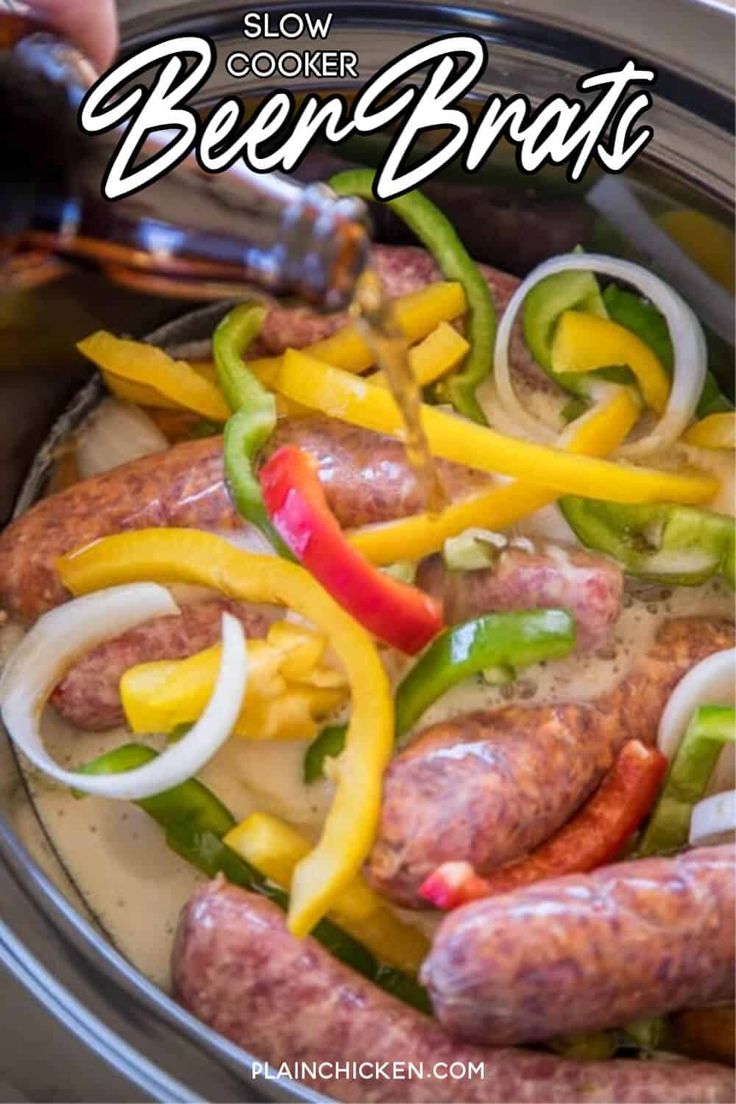
<path id="1" fill-rule="evenodd" d="M 134 583 L 76 598 L 35 623 L 0 678 L 2 720 L 15 746 L 34 766 L 85 794 L 139 800 L 185 782 L 212 758 L 235 725 L 247 683 L 243 627 L 230 614 L 223 614 L 222 660 L 206 709 L 179 743 L 151 763 L 125 774 L 65 771 L 47 753 L 39 729 L 51 691 L 79 655 L 151 617 L 178 611 L 163 586 Z"/>

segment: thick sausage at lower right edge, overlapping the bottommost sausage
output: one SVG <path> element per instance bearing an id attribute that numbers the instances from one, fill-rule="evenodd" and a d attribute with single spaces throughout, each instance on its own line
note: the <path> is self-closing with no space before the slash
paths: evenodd
<path id="1" fill-rule="evenodd" d="M 702 848 L 457 909 L 422 967 L 436 1015 L 503 1047 L 730 999 L 734 860 Z"/>

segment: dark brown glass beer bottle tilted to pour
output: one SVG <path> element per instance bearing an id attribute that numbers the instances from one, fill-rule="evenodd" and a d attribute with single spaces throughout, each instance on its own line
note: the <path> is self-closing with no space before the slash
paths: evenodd
<path id="1" fill-rule="evenodd" d="M 369 257 L 359 200 L 242 163 L 211 176 L 193 158 L 135 195 L 105 200 L 100 180 L 119 135 L 87 137 L 77 126 L 93 78 L 78 51 L 43 32 L 0 54 L 6 248 L 85 257 L 157 294 L 221 298 L 255 284 L 324 310 L 348 305 Z"/>

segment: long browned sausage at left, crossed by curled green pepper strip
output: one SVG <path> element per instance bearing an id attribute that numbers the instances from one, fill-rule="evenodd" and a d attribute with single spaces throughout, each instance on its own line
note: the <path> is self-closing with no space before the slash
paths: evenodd
<path id="1" fill-rule="evenodd" d="M 313 450 L 342 524 L 388 521 L 420 507 L 396 440 L 330 418 L 305 417 L 279 426 L 274 445 L 286 442 Z M 440 461 L 438 468 L 448 493 L 470 492 L 486 481 L 457 465 Z M 33 620 L 66 598 L 55 569 L 60 555 L 109 533 L 151 526 L 242 526 L 225 486 L 221 437 L 182 442 L 36 502 L 0 533 L 0 608 Z"/>

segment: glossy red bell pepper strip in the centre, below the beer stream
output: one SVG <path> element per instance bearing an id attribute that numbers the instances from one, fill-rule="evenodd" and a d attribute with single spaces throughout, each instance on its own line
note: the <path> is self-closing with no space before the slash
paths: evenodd
<path id="1" fill-rule="evenodd" d="M 364 628 L 407 655 L 442 628 L 441 606 L 364 560 L 330 511 L 313 460 L 292 445 L 260 469 L 266 509 L 284 543 Z"/>

